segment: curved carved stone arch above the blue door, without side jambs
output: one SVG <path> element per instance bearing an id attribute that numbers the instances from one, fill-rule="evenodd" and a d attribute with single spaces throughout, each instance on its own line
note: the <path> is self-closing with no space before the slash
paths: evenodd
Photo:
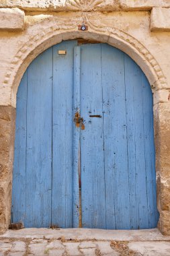
<path id="1" fill-rule="evenodd" d="M 71 40 L 75 38 L 85 38 L 98 40 L 108 43 L 128 54 L 142 69 L 151 84 L 153 92 L 166 88 L 166 79 L 159 63 L 151 55 L 151 53 L 136 38 L 130 36 L 126 32 L 117 28 L 101 27 L 91 24 L 87 20 L 89 30 L 87 32 L 78 31 L 75 24 L 56 25 L 54 21 L 49 22 L 48 28 L 41 22 L 36 35 L 32 36 L 26 44 L 24 44 L 11 62 L 9 71 L 5 77 L 3 84 L 11 87 L 11 105 L 15 107 L 16 93 L 19 82 L 24 75 L 28 65 L 43 51 L 50 46 L 61 42 L 62 40 Z M 45 28 L 44 28 L 45 27 Z"/>

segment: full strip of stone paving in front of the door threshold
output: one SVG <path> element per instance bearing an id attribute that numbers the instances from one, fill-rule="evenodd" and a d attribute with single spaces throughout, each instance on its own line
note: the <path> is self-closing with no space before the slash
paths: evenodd
<path id="1" fill-rule="evenodd" d="M 71 241 L 53 239 L 5 238 L 0 241 L 0 256 L 169 256 L 170 242 Z"/>

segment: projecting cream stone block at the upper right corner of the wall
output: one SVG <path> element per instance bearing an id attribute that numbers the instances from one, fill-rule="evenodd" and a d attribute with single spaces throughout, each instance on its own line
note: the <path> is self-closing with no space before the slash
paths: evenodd
<path id="1" fill-rule="evenodd" d="M 153 8 L 151 31 L 170 31 L 170 8 Z"/>

